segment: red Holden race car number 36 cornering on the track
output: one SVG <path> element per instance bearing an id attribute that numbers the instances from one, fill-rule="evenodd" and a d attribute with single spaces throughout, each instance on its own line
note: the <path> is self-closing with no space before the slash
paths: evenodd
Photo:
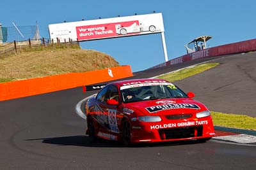
<path id="1" fill-rule="evenodd" d="M 173 83 L 137 79 L 109 83 L 84 105 L 87 131 L 92 138 L 131 143 L 198 139 L 215 135 L 212 117 L 204 104 L 193 100 Z"/>

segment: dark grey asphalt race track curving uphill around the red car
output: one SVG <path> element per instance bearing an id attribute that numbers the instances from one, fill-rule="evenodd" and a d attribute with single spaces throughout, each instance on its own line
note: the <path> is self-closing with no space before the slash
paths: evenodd
<path id="1" fill-rule="evenodd" d="M 214 59 L 214 60 L 212 60 Z M 255 117 L 256 53 L 194 60 L 134 73 L 158 74 L 212 60 L 221 64 L 175 82 L 210 110 Z M 186 141 L 129 148 L 92 142 L 76 104 L 93 92 L 81 87 L 0 103 L 0 169 L 255 169 L 256 146 Z"/>

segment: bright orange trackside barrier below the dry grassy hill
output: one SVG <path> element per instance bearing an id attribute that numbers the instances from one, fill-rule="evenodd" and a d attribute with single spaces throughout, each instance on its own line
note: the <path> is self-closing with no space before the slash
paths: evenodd
<path id="1" fill-rule="evenodd" d="M 0 83 L 0 101 L 82 87 L 132 76 L 131 66 L 118 66 L 84 73 L 68 73 Z"/>

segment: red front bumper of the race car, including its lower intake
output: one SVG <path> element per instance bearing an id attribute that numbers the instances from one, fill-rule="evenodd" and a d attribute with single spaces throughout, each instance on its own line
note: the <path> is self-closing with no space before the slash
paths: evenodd
<path id="1" fill-rule="evenodd" d="M 215 136 L 212 118 L 162 122 L 132 122 L 131 143 L 180 141 Z"/>

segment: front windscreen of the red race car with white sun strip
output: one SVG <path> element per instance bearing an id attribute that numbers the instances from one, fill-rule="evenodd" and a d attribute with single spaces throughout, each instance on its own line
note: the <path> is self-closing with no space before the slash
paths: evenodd
<path id="1" fill-rule="evenodd" d="M 120 87 L 122 101 L 124 103 L 188 97 L 179 87 L 172 83 L 144 83 Z"/>

